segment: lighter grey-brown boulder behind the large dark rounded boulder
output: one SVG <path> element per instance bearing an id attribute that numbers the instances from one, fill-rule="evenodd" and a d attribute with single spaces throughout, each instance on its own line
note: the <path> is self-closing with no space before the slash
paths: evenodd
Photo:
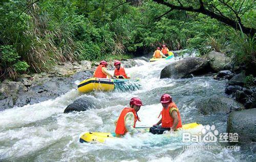
<path id="1" fill-rule="evenodd" d="M 216 72 L 231 68 L 231 59 L 225 56 L 224 53 L 211 51 L 207 54 L 206 58 L 209 60 L 210 67 Z"/>

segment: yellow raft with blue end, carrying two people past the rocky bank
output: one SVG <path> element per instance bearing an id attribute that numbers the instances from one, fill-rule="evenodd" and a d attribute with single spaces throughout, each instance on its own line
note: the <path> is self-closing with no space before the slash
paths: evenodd
<path id="1" fill-rule="evenodd" d="M 127 91 L 140 88 L 139 78 L 135 79 L 109 79 L 92 77 L 79 83 L 77 89 L 79 92 L 87 93 L 91 91 Z"/>

